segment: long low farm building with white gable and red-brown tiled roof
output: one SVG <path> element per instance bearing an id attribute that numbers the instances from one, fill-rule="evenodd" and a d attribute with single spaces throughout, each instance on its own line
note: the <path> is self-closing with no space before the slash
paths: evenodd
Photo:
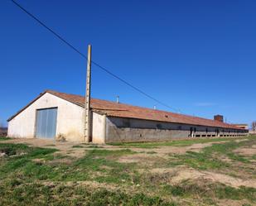
<path id="1" fill-rule="evenodd" d="M 167 141 L 193 137 L 241 137 L 248 130 L 214 120 L 92 98 L 90 141 Z M 8 137 L 84 141 L 85 97 L 46 90 L 8 121 Z"/>

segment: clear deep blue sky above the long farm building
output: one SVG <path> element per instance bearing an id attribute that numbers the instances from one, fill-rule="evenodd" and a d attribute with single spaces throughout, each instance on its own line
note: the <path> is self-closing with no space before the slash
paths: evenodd
<path id="1" fill-rule="evenodd" d="M 28 11 L 93 60 L 182 113 L 256 120 L 256 1 L 33 1 Z M 45 89 L 85 94 L 86 62 L 0 2 L 0 120 Z M 92 96 L 168 110 L 92 67 Z"/>

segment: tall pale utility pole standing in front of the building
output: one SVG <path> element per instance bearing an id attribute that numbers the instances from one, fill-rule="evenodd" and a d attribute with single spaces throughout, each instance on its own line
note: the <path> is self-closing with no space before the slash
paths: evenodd
<path id="1" fill-rule="evenodd" d="M 91 71 L 91 50 L 92 46 L 88 46 L 87 55 L 87 74 L 86 74 L 86 91 L 85 91 L 85 142 L 89 142 L 90 134 L 90 71 Z"/>

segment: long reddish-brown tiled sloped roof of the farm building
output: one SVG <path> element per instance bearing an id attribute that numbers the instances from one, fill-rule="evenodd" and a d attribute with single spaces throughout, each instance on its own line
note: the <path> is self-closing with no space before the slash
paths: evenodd
<path id="1" fill-rule="evenodd" d="M 45 93 L 51 93 L 52 95 L 55 95 L 59 98 L 63 98 L 66 101 L 69 101 L 70 103 L 75 103 L 80 107 L 85 107 L 84 96 L 70 93 L 60 93 L 52 90 L 46 90 L 44 93 L 41 93 L 40 96 L 34 99 L 31 103 L 34 103 L 38 98 L 40 98 Z M 31 103 L 29 103 L 25 108 L 27 108 Z M 151 108 L 142 108 L 124 103 L 115 103 L 97 98 L 91 98 L 90 105 L 94 112 L 106 114 L 109 117 L 128 117 L 144 120 L 153 120 L 159 122 L 175 122 L 197 126 L 240 129 L 239 127 L 235 127 L 234 125 L 227 124 L 225 122 L 218 122 L 211 119 L 193 117 L 178 113 L 171 113 Z M 22 108 L 22 110 L 20 110 L 18 113 L 21 113 L 25 108 Z M 7 121 L 10 121 L 13 117 L 17 116 L 17 114 L 10 117 Z"/>

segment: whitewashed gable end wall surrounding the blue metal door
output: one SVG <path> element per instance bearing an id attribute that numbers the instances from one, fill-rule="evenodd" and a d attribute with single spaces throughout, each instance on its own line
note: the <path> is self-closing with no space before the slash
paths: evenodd
<path id="1" fill-rule="evenodd" d="M 36 109 L 58 108 L 56 136 L 63 135 L 67 141 L 83 141 L 84 108 L 45 93 L 36 102 L 14 117 L 8 124 L 9 137 L 33 138 L 36 133 Z"/>

